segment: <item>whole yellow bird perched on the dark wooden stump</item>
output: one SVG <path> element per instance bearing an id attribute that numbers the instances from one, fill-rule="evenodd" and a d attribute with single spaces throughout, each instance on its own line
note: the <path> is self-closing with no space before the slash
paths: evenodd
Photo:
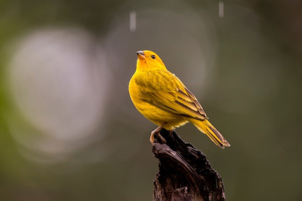
<path id="1" fill-rule="evenodd" d="M 163 142 L 159 134 L 162 128 L 172 130 L 188 122 L 194 124 L 202 133 L 221 148 L 230 146 L 224 137 L 208 121 L 207 115 L 185 85 L 170 71 L 159 56 L 149 50 L 138 51 L 136 71 L 129 82 L 130 98 L 140 113 L 158 125 L 151 132 Z"/>

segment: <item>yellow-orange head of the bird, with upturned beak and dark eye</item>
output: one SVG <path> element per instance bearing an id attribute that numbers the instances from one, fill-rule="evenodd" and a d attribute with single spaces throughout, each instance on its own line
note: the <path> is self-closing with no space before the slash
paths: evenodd
<path id="1" fill-rule="evenodd" d="M 159 56 L 150 50 L 137 51 L 137 71 L 167 70 Z"/>

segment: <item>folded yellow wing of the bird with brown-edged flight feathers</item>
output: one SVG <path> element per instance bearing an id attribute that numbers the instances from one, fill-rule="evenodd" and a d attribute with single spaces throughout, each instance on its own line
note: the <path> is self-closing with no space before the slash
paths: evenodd
<path id="1" fill-rule="evenodd" d="M 142 100 L 174 114 L 207 118 L 195 96 L 169 71 L 146 71 L 138 74 L 135 82 Z"/>

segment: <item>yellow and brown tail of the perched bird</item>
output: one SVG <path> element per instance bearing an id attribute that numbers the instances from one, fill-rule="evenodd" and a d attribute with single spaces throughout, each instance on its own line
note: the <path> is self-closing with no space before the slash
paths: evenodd
<path id="1" fill-rule="evenodd" d="M 201 132 L 205 133 L 217 146 L 224 149 L 224 146 L 230 146 L 230 144 L 224 139 L 224 137 L 216 130 L 216 128 L 207 120 L 191 119 L 189 120 L 194 126 Z"/>

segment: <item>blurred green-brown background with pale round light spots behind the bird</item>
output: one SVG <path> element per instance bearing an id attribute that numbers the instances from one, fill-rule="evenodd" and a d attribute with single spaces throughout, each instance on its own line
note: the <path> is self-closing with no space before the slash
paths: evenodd
<path id="1" fill-rule="evenodd" d="M 152 200 L 156 125 L 134 108 L 153 50 L 230 142 L 193 125 L 233 201 L 302 200 L 301 1 L 0 2 L 0 200 Z"/>

